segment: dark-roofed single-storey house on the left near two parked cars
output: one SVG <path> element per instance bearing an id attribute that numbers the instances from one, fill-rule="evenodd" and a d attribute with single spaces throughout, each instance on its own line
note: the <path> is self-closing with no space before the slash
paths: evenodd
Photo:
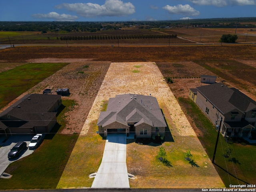
<path id="1" fill-rule="evenodd" d="M 26 95 L 0 114 L 0 134 L 50 132 L 61 104 L 60 95 Z"/>

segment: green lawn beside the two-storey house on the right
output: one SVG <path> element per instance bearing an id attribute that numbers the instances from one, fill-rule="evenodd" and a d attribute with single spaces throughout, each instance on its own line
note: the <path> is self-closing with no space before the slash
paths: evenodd
<path id="1" fill-rule="evenodd" d="M 198 136 L 198 138 L 212 160 L 218 132 L 192 100 L 189 98 L 179 98 L 178 101 L 181 106 L 184 106 L 183 109 L 186 110 L 185 113 L 192 117 L 197 128 L 201 131 L 202 135 Z M 223 154 L 226 153 L 226 148 L 231 149 L 232 159 L 230 157 L 224 158 Z M 229 187 L 230 184 L 255 184 L 255 159 L 255 145 L 244 146 L 240 143 L 229 144 L 225 141 L 224 137 L 220 135 L 214 162 L 215 168 L 226 187 Z"/>

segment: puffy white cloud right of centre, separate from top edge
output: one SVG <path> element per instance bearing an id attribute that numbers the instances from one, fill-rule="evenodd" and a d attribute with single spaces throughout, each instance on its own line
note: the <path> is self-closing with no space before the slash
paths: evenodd
<path id="1" fill-rule="evenodd" d="M 163 7 L 164 10 L 168 11 L 170 14 L 181 14 L 184 16 L 198 16 L 200 14 L 199 11 L 192 8 L 190 5 L 176 5 L 176 6 L 169 6 L 166 5 Z"/>

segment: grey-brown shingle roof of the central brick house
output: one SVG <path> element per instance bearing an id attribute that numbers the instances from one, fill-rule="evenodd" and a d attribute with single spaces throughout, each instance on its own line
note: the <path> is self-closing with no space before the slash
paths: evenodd
<path id="1" fill-rule="evenodd" d="M 110 98 L 106 112 L 101 112 L 98 118 L 98 126 L 106 126 L 107 123 L 118 121 L 144 122 L 151 126 L 166 127 L 164 117 L 155 97 L 123 94 Z"/>

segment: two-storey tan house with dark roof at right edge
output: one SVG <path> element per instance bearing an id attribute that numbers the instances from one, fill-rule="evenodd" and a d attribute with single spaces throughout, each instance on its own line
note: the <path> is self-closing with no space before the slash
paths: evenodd
<path id="1" fill-rule="evenodd" d="M 256 102 L 237 90 L 222 83 L 190 89 L 196 95 L 196 104 L 224 136 L 256 140 Z M 190 96 L 192 98 L 192 96 Z"/>

